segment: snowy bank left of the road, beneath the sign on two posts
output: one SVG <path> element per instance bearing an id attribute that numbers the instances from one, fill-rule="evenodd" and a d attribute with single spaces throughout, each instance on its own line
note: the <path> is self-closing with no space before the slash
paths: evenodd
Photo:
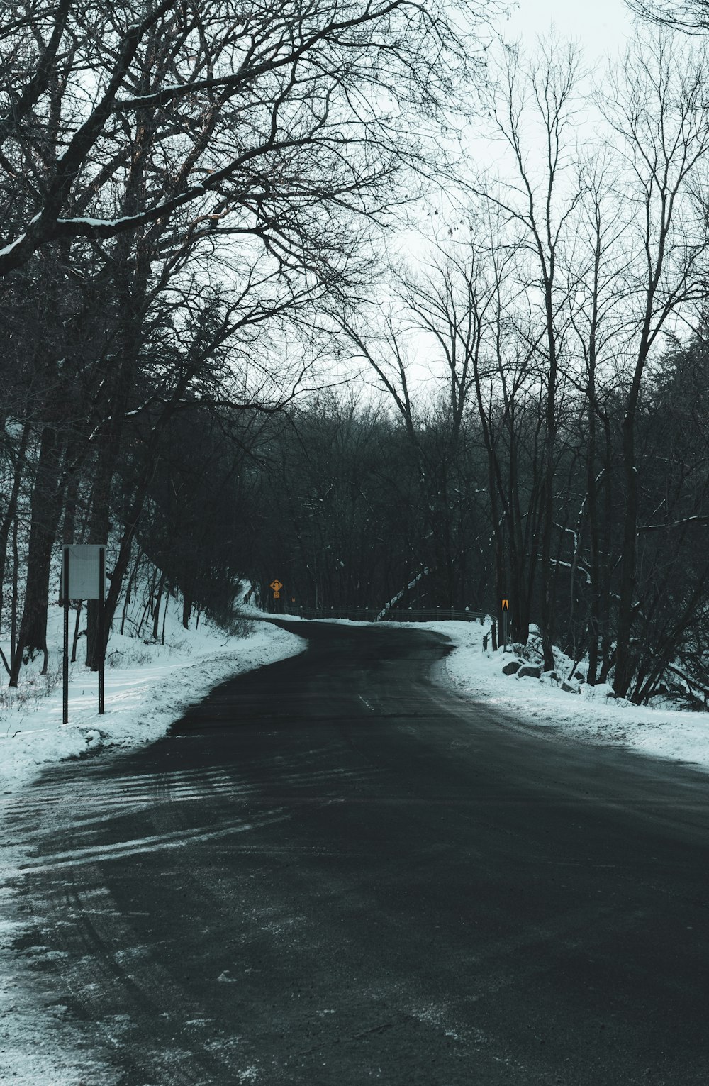
<path id="1" fill-rule="evenodd" d="M 101 747 L 134 747 L 165 734 L 187 706 L 231 675 L 294 656 L 305 642 L 269 622 L 230 636 L 202 619 L 185 630 L 172 602 L 165 644 L 113 634 L 105 669 L 105 714 L 98 715 L 98 677 L 71 666 L 69 722 L 62 724 L 61 610 L 50 608 L 48 675 L 23 670 L 17 691 L 0 689 L 0 790 L 5 794 L 48 765 Z"/>

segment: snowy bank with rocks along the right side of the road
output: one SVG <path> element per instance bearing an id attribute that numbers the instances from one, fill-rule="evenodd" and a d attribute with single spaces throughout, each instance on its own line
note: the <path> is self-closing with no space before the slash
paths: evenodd
<path id="1" fill-rule="evenodd" d="M 445 670 L 463 694 L 484 700 L 521 724 L 559 732 L 591 743 L 634 747 L 659 758 L 672 758 L 709 769 L 709 718 L 662 705 L 638 707 L 608 697 L 608 686 L 579 685 L 566 693 L 550 679 L 518 679 L 503 674 L 511 653 L 483 649 L 483 629 L 477 622 L 431 622 L 426 629 L 444 633 L 455 645 Z M 559 678 L 573 661 L 559 657 Z"/>

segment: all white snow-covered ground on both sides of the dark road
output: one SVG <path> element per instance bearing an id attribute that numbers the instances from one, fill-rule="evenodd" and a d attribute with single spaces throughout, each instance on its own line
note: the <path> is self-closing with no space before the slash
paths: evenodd
<path id="1" fill-rule="evenodd" d="M 253 617 L 258 617 L 254 611 Z M 54 646 L 61 615 L 52 616 Z M 356 623 L 363 624 L 363 623 Z M 397 623 L 400 626 L 400 623 Z M 402 628 L 421 629 L 421 624 Z M 709 768 L 709 728 L 705 714 L 676 709 L 636 708 L 607 699 L 607 687 L 581 686 L 564 693 L 550 680 L 503 674 L 512 657 L 483 648 L 489 623 L 432 622 L 426 629 L 445 634 L 454 645 L 444 662 L 451 683 L 464 695 L 502 710 L 521 725 L 534 727 L 549 738 L 561 733 L 581 741 L 622 744 L 646 754 Z M 59 652 L 50 658 L 50 682 L 29 669 L 18 695 L 0 687 L 0 793 L 5 807 L 22 785 L 48 763 L 79 757 L 103 745 L 135 746 L 163 735 L 189 704 L 203 697 L 229 675 L 261 667 L 301 652 L 306 642 L 266 622 L 255 623 L 250 636 L 228 637 L 201 623 L 185 631 L 175 607 L 166 623 L 166 644 L 114 636 L 113 666 L 106 669 L 105 707 L 97 716 L 97 677 L 81 664 L 73 668 L 69 724 L 62 727 L 61 682 L 56 682 Z M 571 661 L 559 659 L 559 673 Z M 53 672 L 53 678 L 52 678 Z M 13 873 L 24 853 L 12 842 L 0 844 L 0 1081 L 17 1086 L 116 1086 L 118 1075 L 88 1050 L 77 1057 L 76 1035 L 59 1012 L 51 1011 L 51 990 L 41 972 L 34 972 L 13 949 L 31 918 L 13 911 L 17 891 Z M 36 918 L 33 922 L 37 922 Z M 50 1008 L 50 1010 L 48 1010 Z M 59 1015 L 59 1016 L 58 1016 Z M 245 1081 L 245 1079 L 244 1079 Z"/>

